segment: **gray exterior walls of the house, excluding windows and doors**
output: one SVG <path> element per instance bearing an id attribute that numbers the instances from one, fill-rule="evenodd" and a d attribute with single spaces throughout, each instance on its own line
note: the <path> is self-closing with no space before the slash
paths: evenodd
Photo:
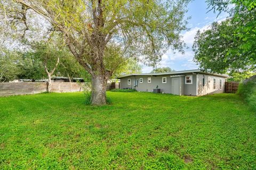
<path id="1" fill-rule="evenodd" d="M 192 84 L 186 84 L 185 83 L 185 76 L 186 75 L 192 75 L 193 80 Z M 203 75 L 205 77 L 205 86 L 203 86 Z M 166 77 L 166 83 L 162 83 L 162 78 Z M 208 82 L 208 77 L 210 78 L 210 83 Z M 140 78 L 143 79 L 143 82 L 140 83 Z M 151 78 L 151 83 L 148 83 L 148 78 Z M 213 78 L 216 79 L 216 89 L 213 89 Z M 131 84 L 128 84 L 128 79 L 131 79 Z M 148 91 L 152 92 L 153 89 L 158 86 L 158 89 L 161 89 L 161 92 L 164 92 L 165 94 L 173 94 L 172 90 L 172 79 L 173 77 L 170 77 L 170 75 L 157 75 L 157 76 L 151 76 L 151 75 L 136 75 L 136 76 L 130 76 L 121 78 L 120 82 L 120 88 L 131 88 L 136 89 L 137 91 Z M 202 96 L 206 94 L 215 94 L 215 93 L 222 93 L 225 92 L 225 78 L 218 77 L 215 75 L 208 75 L 208 74 L 193 74 L 188 73 L 184 74 L 183 76 L 179 77 L 180 79 L 180 95 L 188 95 L 188 96 Z M 220 89 L 220 79 L 222 80 L 222 89 Z M 138 86 L 134 87 L 134 81 L 138 80 Z"/>

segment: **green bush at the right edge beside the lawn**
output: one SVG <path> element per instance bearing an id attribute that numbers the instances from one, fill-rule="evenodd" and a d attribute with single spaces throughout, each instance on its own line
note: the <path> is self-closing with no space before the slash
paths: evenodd
<path id="1" fill-rule="evenodd" d="M 256 111 L 256 79 L 241 83 L 238 88 L 238 94 Z"/>

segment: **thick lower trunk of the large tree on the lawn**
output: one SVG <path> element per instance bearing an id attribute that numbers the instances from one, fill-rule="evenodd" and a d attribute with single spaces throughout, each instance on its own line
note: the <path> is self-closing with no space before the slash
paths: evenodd
<path id="1" fill-rule="evenodd" d="M 106 105 L 107 79 L 104 75 L 92 75 L 92 105 Z"/>

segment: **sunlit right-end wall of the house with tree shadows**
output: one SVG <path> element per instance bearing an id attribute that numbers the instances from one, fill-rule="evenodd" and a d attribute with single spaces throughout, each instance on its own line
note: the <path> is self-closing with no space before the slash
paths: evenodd
<path id="1" fill-rule="evenodd" d="M 205 85 L 203 86 L 203 77 L 205 79 Z M 216 79 L 216 89 L 213 89 L 213 78 Z M 222 80 L 222 88 L 220 89 L 220 79 Z M 208 81 L 210 80 L 210 82 Z M 225 81 L 223 77 L 218 77 L 215 75 L 208 74 L 198 74 L 198 96 L 207 95 L 207 94 L 219 94 L 225 92 Z"/>

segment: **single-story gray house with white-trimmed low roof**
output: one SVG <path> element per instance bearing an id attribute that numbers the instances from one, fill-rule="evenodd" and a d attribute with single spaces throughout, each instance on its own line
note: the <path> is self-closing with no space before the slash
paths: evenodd
<path id="1" fill-rule="evenodd" d="M 121 89 L 136 89 L 165 94 L 202 96 L 225 91 L 228 76 L 202 70 L 174 71 L 169 73 L 129 74 L 119 77 Z"/>

